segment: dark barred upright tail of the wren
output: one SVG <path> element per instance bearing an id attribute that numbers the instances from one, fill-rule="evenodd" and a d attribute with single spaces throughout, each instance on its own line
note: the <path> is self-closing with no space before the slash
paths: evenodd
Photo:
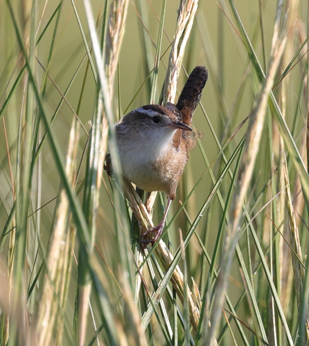
<path id="1" fill-rule="evenodd" d="M 188 126 L 191 126 L 191 119 L 200 102 L 207 78 L 208 70 L 205 66 L 194 67 L 180 93 L 176 107 L 182 112 L 183 123 Z"/>

